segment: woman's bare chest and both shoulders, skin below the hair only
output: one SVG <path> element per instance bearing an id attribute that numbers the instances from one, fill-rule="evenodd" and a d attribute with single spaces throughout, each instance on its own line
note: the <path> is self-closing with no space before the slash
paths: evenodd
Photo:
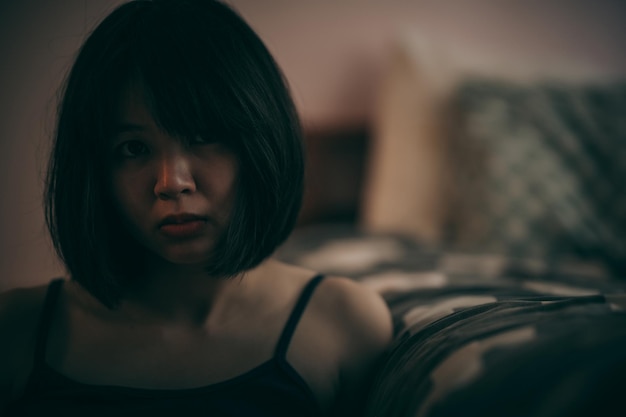
<path id="1" fill-rule="evenodd" d="M 47 363 L 79 382 L 184 389 L 224 381 L 273 355 L 285 321 L 312 271 L 267 261 L 243 279 L 197 286 L 188 299 L 125 301 L 108 310 L 66 282 L 48 339 Z M 179 286 L 184 288 L 184 286 Z M 22 392 L 34 355 L 45 287 L 2 295 L 2 406 Z M 210 296 L 214 296 L 210 298 Z M 195 299 L 190 302 L 190 299 Z M 291 341 L 287 359 L 322 409 L 353 409 L 363 381 L 391 338 L 382 299 L 345 278 L 317 288 Z"/>

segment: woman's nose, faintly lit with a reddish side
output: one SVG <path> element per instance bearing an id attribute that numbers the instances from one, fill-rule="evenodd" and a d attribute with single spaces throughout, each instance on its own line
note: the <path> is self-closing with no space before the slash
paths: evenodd
<path id="1" fill-rule="evenodd" d="M 196 191 L 191 163 L 185 155 L 164 155 L 158 162 L 154 194 L 160 199 L 175 199 Z"/>

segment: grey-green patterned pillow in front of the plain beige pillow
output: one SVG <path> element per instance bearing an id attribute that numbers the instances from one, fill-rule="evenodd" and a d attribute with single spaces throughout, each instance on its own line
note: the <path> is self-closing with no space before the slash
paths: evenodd
<path id="1" fill-rule="evenodd" d="M 472 80 L 450 135 L 461 247 L 626 266 L 626 83 Z"/>

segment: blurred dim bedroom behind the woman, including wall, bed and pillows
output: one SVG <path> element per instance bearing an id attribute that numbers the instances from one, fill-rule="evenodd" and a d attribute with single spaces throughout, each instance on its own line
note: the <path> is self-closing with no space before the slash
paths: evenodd
<path id="1" fill-rule="evenodd" d="M 119 2 L 49 3 L 0 6 L 0 291 L 62 273 L 39 198 L 52 97 Z M 391 309 L 368 416 L 622 408 L 622 2 L 229 3 L 304 124 L 304 206 L 277 257 L 359 280 Z"/>

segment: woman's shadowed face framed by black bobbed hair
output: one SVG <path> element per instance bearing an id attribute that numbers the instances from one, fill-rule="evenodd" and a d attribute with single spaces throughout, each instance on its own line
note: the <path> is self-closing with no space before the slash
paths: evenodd
<path id="1" fill-rule="evenodd" d="M 236 156 L 211 138 L 160 130 L 141 94 L 122 101 L 109 147 L 112 197 L 132 236 L 177 264 L 199 264 L 230 220 Z"/>

